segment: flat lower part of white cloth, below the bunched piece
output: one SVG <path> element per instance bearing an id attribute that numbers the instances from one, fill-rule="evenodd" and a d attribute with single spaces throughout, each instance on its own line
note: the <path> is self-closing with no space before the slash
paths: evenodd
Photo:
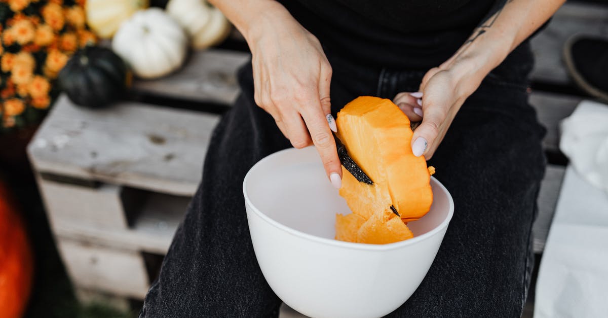
<path id="1" fill-rule="evenodd" d="M 536 281 L 534 318 L 608 317 L 608 195 L 568 166 Z"/>

